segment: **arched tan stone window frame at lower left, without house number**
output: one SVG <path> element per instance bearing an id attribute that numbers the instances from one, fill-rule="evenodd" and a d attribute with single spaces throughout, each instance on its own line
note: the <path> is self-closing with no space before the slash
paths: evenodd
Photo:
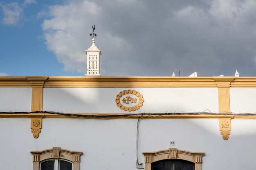
<path id="1" fill-rule="evenodd" d="M 80 156 L 83 152 L 65 150 L 58 147 L 42 151 L 31 151 L 33 155 L 33 170 L 39 170 L 40 162 L 47 159 L 62 159 L 72 162 L 72 170 L 80 170 Z"/>

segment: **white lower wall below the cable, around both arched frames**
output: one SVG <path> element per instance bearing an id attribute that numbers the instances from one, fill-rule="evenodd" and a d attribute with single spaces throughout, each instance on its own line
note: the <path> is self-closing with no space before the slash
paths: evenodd
<path id="1" fill-rule="evenodd" d="M 232 119 L 225 141 L 218 119 L 140 119 L 138 161 L 144 163 L 142 152 L 177 148 L 205 152 L 202 170 L 254 170 L 254 124 L 254 119 Z M 0 129 L 0 169 L 32 170 L 30 151 L 61 147 L 83 152 L 81 170 L 137 170 L 137 119 L 45 118 L 37 139 L 30 119 L 3 118 Z"/>

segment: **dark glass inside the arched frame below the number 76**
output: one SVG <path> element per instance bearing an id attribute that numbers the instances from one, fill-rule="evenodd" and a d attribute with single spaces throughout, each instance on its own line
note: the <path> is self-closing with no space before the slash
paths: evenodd
<path id="1" fill-rule="evenodd" d="M 181 160 L 163 160 L 152 163 L 152 170 L 194 170 L 194 163 Z"/>

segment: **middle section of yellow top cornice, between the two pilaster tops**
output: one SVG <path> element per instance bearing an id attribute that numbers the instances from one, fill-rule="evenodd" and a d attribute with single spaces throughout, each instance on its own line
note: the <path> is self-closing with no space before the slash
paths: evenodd
<path id="1" fill-rule="evenodd" d="M 45 87 L 216 88 L 212 77 L 49 77 Z"/>

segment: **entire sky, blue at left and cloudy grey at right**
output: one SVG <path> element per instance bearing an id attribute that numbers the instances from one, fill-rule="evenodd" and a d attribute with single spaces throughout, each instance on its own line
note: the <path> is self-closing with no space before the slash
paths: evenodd
<path id="1" fill-rule="evenodd" d="M 256 76 L 255 0 L 2 0 L 0 76 L 83 76 L 93 24 L 101 76 Z"/>

